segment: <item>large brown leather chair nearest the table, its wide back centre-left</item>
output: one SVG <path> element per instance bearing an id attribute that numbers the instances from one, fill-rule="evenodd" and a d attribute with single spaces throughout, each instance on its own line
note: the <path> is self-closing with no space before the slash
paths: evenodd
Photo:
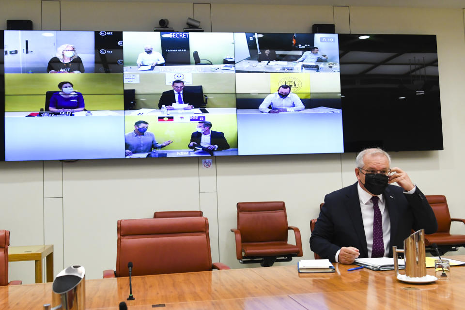
<path id="1" fill-rule="evenodd" d="M 230 269 L 213 263 L 206 217 L 121 219 L 118 221 L 116 271 L 104 278 Z"/>

